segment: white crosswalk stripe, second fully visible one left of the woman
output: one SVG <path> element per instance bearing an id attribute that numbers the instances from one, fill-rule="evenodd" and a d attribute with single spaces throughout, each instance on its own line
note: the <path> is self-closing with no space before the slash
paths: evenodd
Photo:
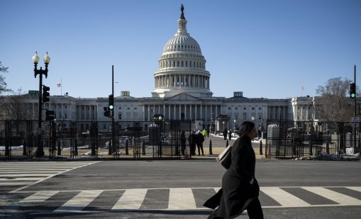
<path id="1" fill-rule="evenodd" d="M 127 189 L 111 210 L 138 210 L 148 189 Z"/>

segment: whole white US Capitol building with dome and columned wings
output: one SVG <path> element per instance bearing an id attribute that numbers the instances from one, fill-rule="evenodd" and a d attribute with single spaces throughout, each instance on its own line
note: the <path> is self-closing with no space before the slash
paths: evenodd
<path id="1" fill-rule="evenodd" d="M 135 98 L 130 96 L 130 91 L 115 95 L 115 121 L 152 121 L 155 114 L 162 114 L 165 120 L 191 120 L 195 126 L 213 124 L 216 130 L 223 130 L 245 120 L 253 120 L 258 127 L 267 119 L 314 118 L 313 97 L 249 99 L 242 91 L 234 91 L 230 98 L 213 96 L 206 59 L 199 44 L 187 32 L 183 10 L 182 6 L 177 33 L 167 41 L 158 60 L 152 96 Z M 26 94 L 26 105 L 28 119 L 38 119 L 38 96 Z M 90 121 L 109 122 L 104 116 L 107 106 L 108 97 L 88 99 L 65 95 L 50 96 L 50 102 L 44 103 L 43 108 L 55 111 L 56 120 L 77 121 L 82 130 L 89 130 Z M 99 125 L 99 129 L 102 128 L 108 127 L 104 123 Z"/>

